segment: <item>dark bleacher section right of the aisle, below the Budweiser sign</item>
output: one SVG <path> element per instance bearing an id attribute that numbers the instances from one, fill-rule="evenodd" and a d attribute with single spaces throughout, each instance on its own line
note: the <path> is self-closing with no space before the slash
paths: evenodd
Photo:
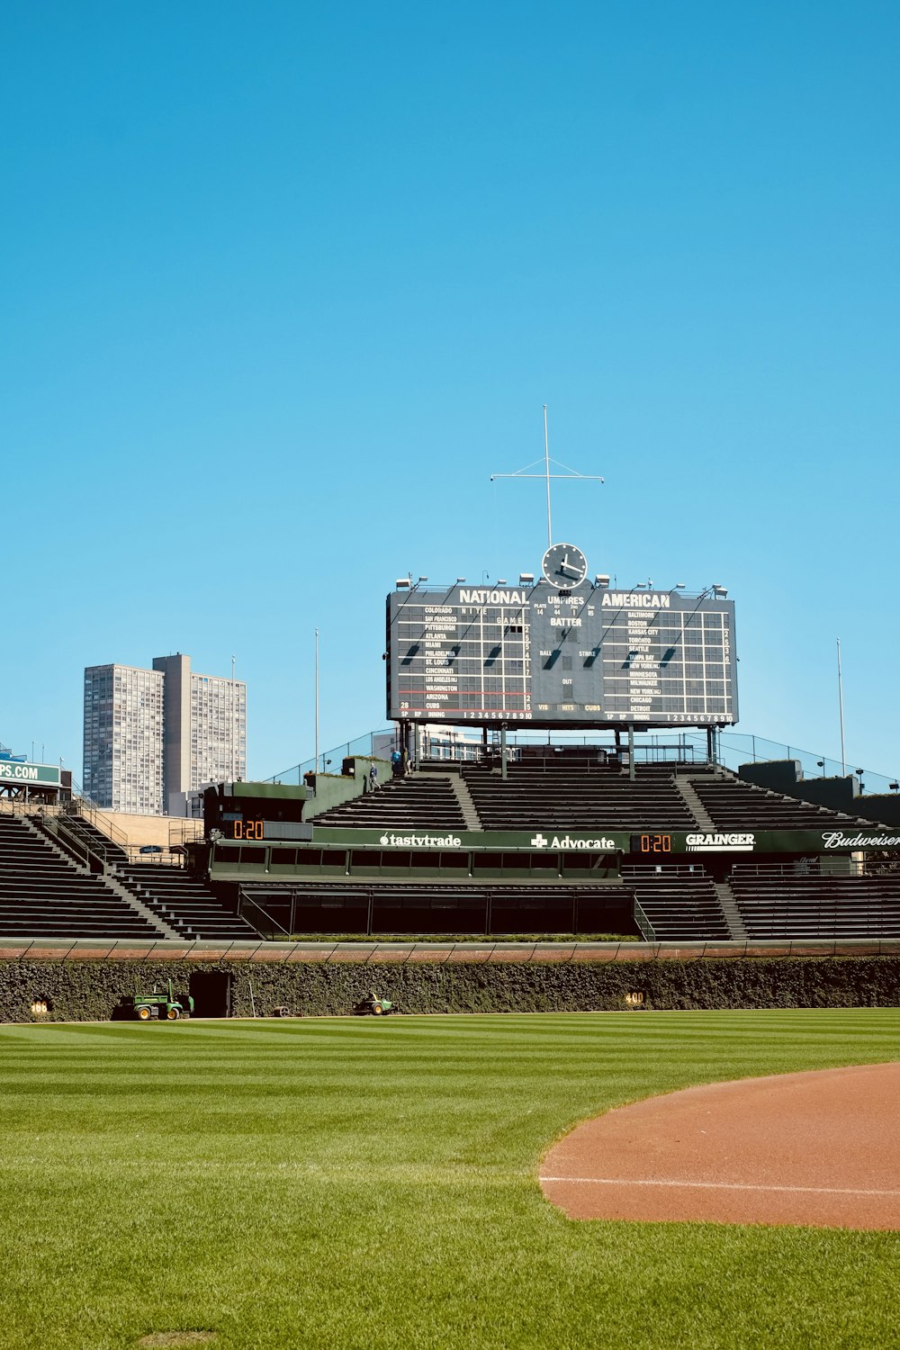
<path id="1" fill-rule="evenodd" d="M 900 937 L 900 876 L 760 876 L 738 865 L 729 886 L 756 941 Z"/>

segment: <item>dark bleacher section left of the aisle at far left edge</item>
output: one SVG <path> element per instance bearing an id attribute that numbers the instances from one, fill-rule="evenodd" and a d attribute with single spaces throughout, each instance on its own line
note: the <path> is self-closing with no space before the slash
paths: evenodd
<path id="1" fill-rule="evenodd" d="M 158 938 L 161 930 L 101 878 L 15 815 L 0 815 L 0 934 L 4 937 Z"/>

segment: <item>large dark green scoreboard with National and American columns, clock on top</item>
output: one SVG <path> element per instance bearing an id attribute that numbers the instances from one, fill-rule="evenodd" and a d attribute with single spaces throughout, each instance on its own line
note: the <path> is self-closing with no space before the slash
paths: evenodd
<path id="1" fill-rule="evenodd" d="M 737 722 L 733 601 L 622 591 L 569 571 L 563 586 L 393 591 L 389 718 L 548 728 Z"/>

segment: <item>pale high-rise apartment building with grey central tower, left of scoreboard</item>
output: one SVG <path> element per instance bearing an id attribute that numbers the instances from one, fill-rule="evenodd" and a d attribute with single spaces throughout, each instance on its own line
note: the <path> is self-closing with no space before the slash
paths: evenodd
<path id="1" fill-rule="evenodd" d="M 181 653 L 85 670 L 84 788 L 99 806 L 181 814 L 185 792 L 246 774 L 243 680 L 197 675 Z"/>

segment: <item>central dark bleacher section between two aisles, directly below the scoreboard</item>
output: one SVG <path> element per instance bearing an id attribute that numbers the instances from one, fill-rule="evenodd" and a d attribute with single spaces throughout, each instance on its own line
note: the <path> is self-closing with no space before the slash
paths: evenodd
<path id="1" fill-rule="evenodd" d="M 638 770 L 631 780 L 596 757 L 532 759 L 510 764 L 506 779 L 490 764 L 467 764 L 463 778 L 486 830 L 696 829 L 671 772 Z"/>

